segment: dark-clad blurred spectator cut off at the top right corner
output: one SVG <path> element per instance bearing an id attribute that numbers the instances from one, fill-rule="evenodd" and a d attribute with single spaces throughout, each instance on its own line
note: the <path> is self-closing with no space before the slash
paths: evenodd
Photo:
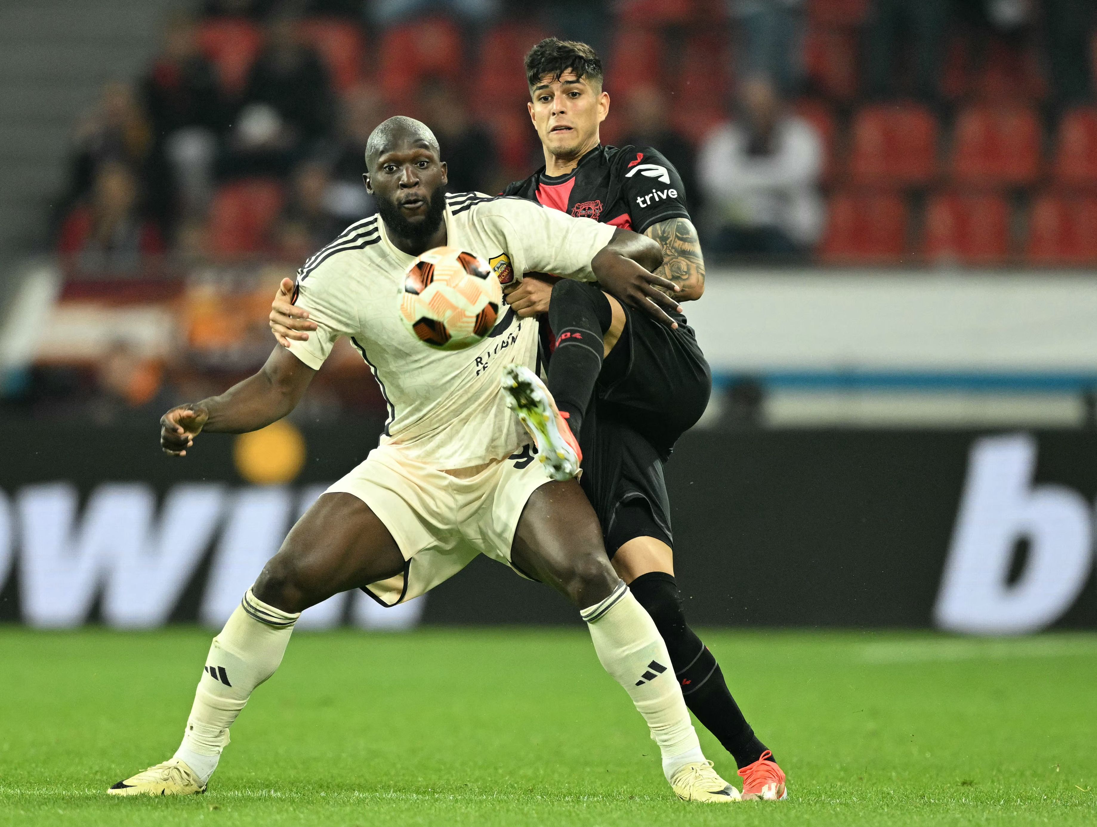
<path id="1" fill-rule="evenodd" d="M 1044 48 L 1052 92 L 1060 105 L 1093 98 L 1094 27 L 1097 5 L 1093 0 L 1044 0 Z"/>

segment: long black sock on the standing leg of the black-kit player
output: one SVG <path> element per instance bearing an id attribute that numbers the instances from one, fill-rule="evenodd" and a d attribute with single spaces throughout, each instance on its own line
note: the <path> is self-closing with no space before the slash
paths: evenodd
<path id="1" fill-rule="evenodd" d="M 664 571 L 651 571 L 637 577 L 629 588 L 652 615 L 667 644 L 690 712 L 735 757 L 739 769 L 761 758 L 766 745 L 743 717 L 716 658 L 687 625 L 675 578 Z"/>

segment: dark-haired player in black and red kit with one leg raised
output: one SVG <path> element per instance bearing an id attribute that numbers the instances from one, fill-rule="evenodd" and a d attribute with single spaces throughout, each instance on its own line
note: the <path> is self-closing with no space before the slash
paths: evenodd
<path id="1" fill-rule="evenodd" d="M 525 71 L 545 166 L 506 194 L 644 234 L 663 250 L 657 272 L 679 287 L 675 298 L 700 298 L 704 259 L 677 170 L 651 147 L 600 144 L 610 98 L 595 50 L 547 38 L 527 55 Z M 498 270 L 507 281 L 506 263 Z M 283 344 L 307 339 L 312 329 L 305 310 L 290 306 L 291 291 L 292 282 L 284 283 L 271 313 Z M 540 422 L 531 428 L 541 437 L 539 456 L 561 465 L 564 476 L 583 458 L 580 480 L 606 550 L 666 641 L 687 705 L 735 758 L 744 797 L 784 797 L 784 773 L 689 627 L 674 577 L 663 466 L 678 437 L 704 411 L 711 389 L 693 331 L 680 313 L 657 320 L 589 283 L 527 274 L 505 292 L 519 316 L 543 315 L 552 330 L 544 348 L 552 351 L 547 386 L 566 421 L 545 405 L 525 414 Z"/>

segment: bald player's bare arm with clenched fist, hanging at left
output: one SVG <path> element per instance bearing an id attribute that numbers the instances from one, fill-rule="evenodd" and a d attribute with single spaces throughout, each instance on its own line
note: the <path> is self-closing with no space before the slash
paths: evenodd
<path id="1" fill-rule="evenodd" d="M 245 433 L 276 422 L 293 410 L 316 371 L 292 353 L 275 348 L 253 376 L 220 396 L 180 405 L 160 418 L 160 448 L 171 456 L 186 456 L 186 449 L 202 431 Z"/>

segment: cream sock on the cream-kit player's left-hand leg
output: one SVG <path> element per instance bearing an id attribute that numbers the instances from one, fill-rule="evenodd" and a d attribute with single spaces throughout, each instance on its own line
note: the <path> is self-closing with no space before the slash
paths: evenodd
<path id="1" fill-rule="evenodd" d="M 248 589 L 220 634 L 213 638 L 183 743 L 174 755 L 203 783 L 217 769 L 220 752 L 228 746 L 228 728 L 248 698 L 282 662 L 299 616 L 299 612 L 291 614 L 268 605 Z"/>

